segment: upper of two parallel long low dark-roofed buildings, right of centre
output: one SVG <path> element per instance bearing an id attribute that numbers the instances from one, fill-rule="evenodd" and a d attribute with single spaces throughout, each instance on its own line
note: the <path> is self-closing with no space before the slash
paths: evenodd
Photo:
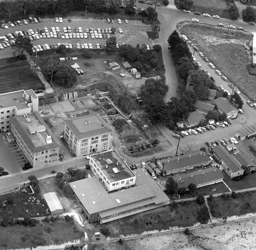
<path id="1" fill-rule="evenodd" d="M 166 174 L 183 172 L 189 169 L 206 166 L 210 163 L 210 157 L 203 151 L 190 154 L 169 157 L 157 161 L 159 169 Z"/>

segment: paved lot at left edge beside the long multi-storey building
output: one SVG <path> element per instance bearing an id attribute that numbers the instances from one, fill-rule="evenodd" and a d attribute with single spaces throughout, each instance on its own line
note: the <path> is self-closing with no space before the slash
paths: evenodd
<path id="1" fill-rule="evenodd" d="M 0 136 L 0 166 L 9 174 L 22 172 L 27 160 L 16 143 L 10 144 L 4 136 L 6 133 Z"/>

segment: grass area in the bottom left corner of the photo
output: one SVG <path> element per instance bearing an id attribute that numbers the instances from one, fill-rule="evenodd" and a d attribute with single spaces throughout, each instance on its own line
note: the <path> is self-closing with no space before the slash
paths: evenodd
<path id="1" fill-rule="evenodd" d="M 43 226 L 42 223 L 44 223 Z M 65 219 L 60 219 L 53 223 L 42 223 L 37 223 L 35 227 L 23 225 L 1 227 L 0 249 L 60 244 L 82 237 L 83 229 L 76 222 L 67 223 Z M 21 239 L 24 236 L 27 236 L 25 242 Z"/>

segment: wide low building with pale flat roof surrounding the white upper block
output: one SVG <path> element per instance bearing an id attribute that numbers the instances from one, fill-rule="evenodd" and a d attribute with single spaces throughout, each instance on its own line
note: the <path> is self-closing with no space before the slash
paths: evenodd
<path id="1" fill-rule="evenodd" d="M 158 183 L 144 169 L 137 169 L 134 174 L 135 186 L 111 193 L 96 177 L 70 183 L 89 223 L 106 223 L 170 204 Z"/>

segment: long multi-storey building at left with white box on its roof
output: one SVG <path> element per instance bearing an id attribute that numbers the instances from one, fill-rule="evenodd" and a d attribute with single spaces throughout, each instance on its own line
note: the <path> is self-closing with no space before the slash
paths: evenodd
<path id="1" fill-rule="evenodd" d="M 34 168 L 58 161 L 60 146 L 38 112 L 11 117 L 11 132 Z"/>

